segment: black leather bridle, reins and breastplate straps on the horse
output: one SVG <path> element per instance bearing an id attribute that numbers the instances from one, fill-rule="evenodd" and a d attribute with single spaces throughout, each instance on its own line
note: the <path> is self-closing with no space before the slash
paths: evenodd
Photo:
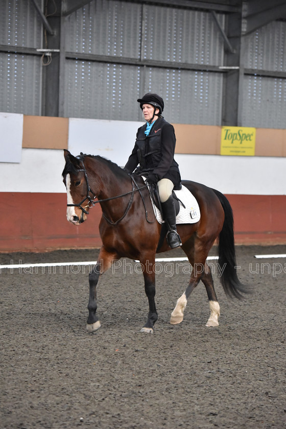
<path id="1" fill-rule="evenodd" d="M 145 216 L 146 216 L 146 220 L 147 220 L 147 222 L 148 223 L 153 223 L 154 221 L 149 221 L 149 219 L 148 219 L 148 212 L 147 212 L 147 208 L 146 208 L 146 204 L 145 204 L 145 200 L 144 200 L 144 198 L 143 198 L 143 196 L 142 196 L 142 193 L 141 193 L 141 189 L 143 189 L 143 188 L 146 188 L 146 187 L 148 187 L 149 185 L 147 184 L 147 185 L 144 185 L 144 186 L 138 186 L 137 185 L 137 183 L 135 182 L 135 180 L 134 180 L 134 177 L 132 176 L 132 175 L 129 175 L 130 177 L 131 177 L 131 182 L 132 182 L 132 190 L 130 190 L 129 192 L 126 192 L 126 193 L 124 193 L 124 194 L 121 194 L 121 195 L 116 195 L 115 197 L 110 197 L 110 198 L 104 198 L 104 199 L 102 199 L 102 200 L 97 200 L 97 201 L 94 201 L 94 198 L 97 198 L 97 196 L 96 196 L 96 194 L 93 192 L 93 190 L 91 189 L 91 187 L 90 187 L 90 185 L 89 185 L 89 182 L 88 182 L 88 177 L 87 177 L 87 173 L 86 173 L 86 169 L 85 169 L 85 165 L 84 165 L 84 163 L 83 163 L 83 160 L 82 159 L 80 159 L 79 157 L 77 157 L 80 161 L 81 161 L 81 163 L 82 163 L 82 166 L 83 166 L 83 168 L 82 169 L 79 169 L 79 170 L 77 170 L 78 172 L 83 172 L 84 173 L 84 177 L 85 177 L 85 182 L 86 182 L 86 197 L 79 203 L 79 204 L 67 204 L 67 207 L 79 207 L 81 210 L 82 210 L 82 213 L 86 213 L 86 214 L 89 214 L 89 212 L 86 210 L 86 208 L 92 208 L 92 207 L 94 207 L 94 205 L 96 205 L 97 203 L 103 203 L 103 202 L 105 202 L 105 201 L 110 201 L 110 200 L 115 200 L 116 198 L 121 198 L 121 197 L 125 197 L 126 195 L 129 195 L 129 194 L 131 194 L 131 198 L 130 198 L 130 200 L 129 200 L 129 203 L 128 203 L 128 205 L 127 205 L 127 208 L 126 208 L 126 210 L 125 210 L 125 212 L 124 212 L 124 214 L 123 214 L 123 216 L 120 218 L 120 219 L 118 219 L 116 222 L 113 222 L 113 221 L 111 221 L 110 219 L 108 219 L 107 217 L 106 217 L 106 215 L 104 214 L 104 212 L 102 212 L 102 216 L 104 217 L 104 219 L 108 222 L 108 223 L 110 223 L 111 225 L 117 225 L 119 222 L 121 222 L 124 218 L 125 218 L 125 216 L 126 216 L 126 214 L 127 214 L 127 212 L 128 212 L 128 210 L 130 209 L 130 207 L 131 207 L 131 204 L 132 204 L 132 202 L 133 202 L 133 197 L 134 197 L 134 192 L 135 191 L 138 191 L 139 192 L 139 194 L 140 194 L 140 197 L 141 197 L 141 199 L 142 199 L 142 202 L 143 202 L 143 204 L 144 204 L 144 208 L 145 208 Z M 135 188 L 135 186 L 136 186 L 136 188 Z M 89 193 L 91 193 L 91 194 L 93 194 L 93 197 L 91 198 L 90 197 L 90 195 L 89 195 Z M 83 207 L 82 206 L 82 204 L 86 201 L 86 200 L 88 200 L 88 203 Z"/>

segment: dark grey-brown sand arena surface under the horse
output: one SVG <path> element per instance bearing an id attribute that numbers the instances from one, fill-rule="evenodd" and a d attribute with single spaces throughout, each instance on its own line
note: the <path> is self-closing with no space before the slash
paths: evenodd
<path id="1" fill-rule="evenodd" d="M 139 332 L 148 302 L 134 261 L 100 279 L 102 327 L 88 334 L 88 269 L 76 262 L 98 250 L 0 254 L 2 265 L 75 261 L 0 274 L 1 429 L 286 427 L 286 258 L 254 258 L 263 253 L 286 246 L 236 247 L 239 278 L 253 289 L 244 301 L 226 298 L 214 275 L 217 328 L 205 327 L 202 283 L 183 322 L 169 324 L 189 274 L 186 263 L 174 261 L 173 274 L 157 266 L 155 335 Z"/>

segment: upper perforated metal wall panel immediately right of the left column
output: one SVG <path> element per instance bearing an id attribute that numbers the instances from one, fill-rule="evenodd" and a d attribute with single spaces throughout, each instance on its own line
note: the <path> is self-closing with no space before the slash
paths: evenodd
<path id="1" fill-rule="evenodd" d="M 95 0 L 67 19 L 66 51 L 139 58 L 141 6 Z"/>

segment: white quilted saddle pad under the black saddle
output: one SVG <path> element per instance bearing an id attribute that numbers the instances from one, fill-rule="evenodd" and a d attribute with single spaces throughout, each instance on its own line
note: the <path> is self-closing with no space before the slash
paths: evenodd
<path id="1" fill-rule="evenodd" d="M 194 197 L 194 195 L 185 187 L 182 186 L 182 189 L 174 191 L 177 198 L 182 201 L 185 208 L 179 201 L 180 210 L 176 217 L 176 224 L 188 224 L 188 223 L 196 223 L 199 222 L 201 218 L 200 207 L 199 204 Z M 152 202 L 153 203 L 153 202 Z M 157 221 L 161 224 L 164 222 L 162 220 L 162 215 L 160 210 L 153 203 L 154 213 L 156 215 Z"/>

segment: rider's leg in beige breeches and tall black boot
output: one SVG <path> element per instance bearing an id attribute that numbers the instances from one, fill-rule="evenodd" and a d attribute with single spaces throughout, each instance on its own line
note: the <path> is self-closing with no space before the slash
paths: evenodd
<path id="1" fill-rule="evenodd" d="M 159 198 L 163 211 L 163 218 L 168 227 L 167 242 L 174 249 L 182 245 L 176 227 L 176 210 L 172 196 L 174 184 L 170 179 L 161 179 L 158 181 Z"/>

